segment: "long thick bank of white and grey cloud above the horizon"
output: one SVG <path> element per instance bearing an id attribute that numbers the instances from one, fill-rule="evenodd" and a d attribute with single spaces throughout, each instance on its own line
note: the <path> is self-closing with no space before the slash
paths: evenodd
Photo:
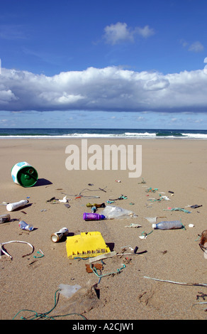
<path id="1" fill-rule="evenodd" d="M 47 77 L 3 68 L 0 110 L 207 112 L 207 75 L 205 68 L 163 75 L 108 67 Z"/>

